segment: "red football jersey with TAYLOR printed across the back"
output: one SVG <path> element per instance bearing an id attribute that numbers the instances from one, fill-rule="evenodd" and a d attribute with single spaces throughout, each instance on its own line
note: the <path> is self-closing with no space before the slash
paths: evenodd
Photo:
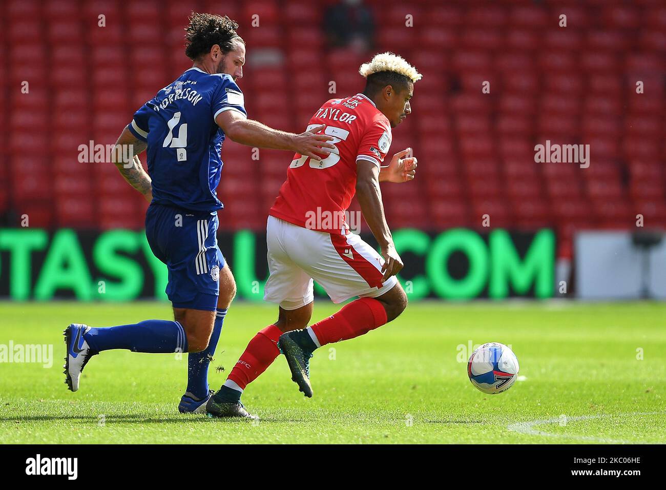
<path id="1" fill-rule="evenodd" d="M 269 214 L 308 229 L 346 235 L 344 219 L 356 193 L 356 160 L 380 166 L 391 146 L 391 125 L 363 94 L 331 99 L 310 118 L 325 124 L 336 149 L 321 161 L 294 155 Z"/>

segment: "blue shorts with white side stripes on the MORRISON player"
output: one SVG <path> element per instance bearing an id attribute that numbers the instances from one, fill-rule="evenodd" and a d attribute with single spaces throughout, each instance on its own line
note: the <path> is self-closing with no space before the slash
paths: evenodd
<path id="1" fill-rule="evenodd" d="M 217 213 L 151 204 L 146 237 L 168 268 L 166 295 L 174 308 L 215 311 L 224 257 L 217 246 Z"/>

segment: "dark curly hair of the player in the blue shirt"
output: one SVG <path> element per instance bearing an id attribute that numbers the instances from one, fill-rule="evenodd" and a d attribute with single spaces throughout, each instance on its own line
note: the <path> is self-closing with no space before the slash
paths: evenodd
<path id="1" fill-rule="evenodd" d="M 210 53 L 213 45 L 219 45 L 226 55 L 234 49 L 232 39 L 245 44 L 242 37 L 236 34 L 238 23 L 229 17 L 220 17 L 210 13 L 192 12 L 190 24 L 185 27 L 185 54 L 189 59 L 196 60 L 201 55 Z"/>

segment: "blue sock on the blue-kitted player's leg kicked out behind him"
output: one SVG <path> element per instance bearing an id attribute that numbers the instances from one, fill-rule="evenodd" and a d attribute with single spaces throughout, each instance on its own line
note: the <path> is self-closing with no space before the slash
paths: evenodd
<path id="1" fill-rule="evenodd" d="M 109 349 L 151 353 L 187 351 L 185 331 L 173 320 L 144 320 L 133 325 L 91 328 L 83 338 L 98 352 Z"/>

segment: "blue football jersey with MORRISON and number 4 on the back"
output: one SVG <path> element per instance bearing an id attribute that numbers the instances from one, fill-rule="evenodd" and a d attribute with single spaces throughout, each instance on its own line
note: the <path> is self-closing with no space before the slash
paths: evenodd
<path id="1" fill-rule="evenodd" d="M 222 111 L 247 115 L 238 85 L 230 75 L 192 67 L 135 113 L 129 130 L 148 143 L 153 203 L 210 212 L 223 207 L 216 189 L 224 131 L 215 123 Z"/>

